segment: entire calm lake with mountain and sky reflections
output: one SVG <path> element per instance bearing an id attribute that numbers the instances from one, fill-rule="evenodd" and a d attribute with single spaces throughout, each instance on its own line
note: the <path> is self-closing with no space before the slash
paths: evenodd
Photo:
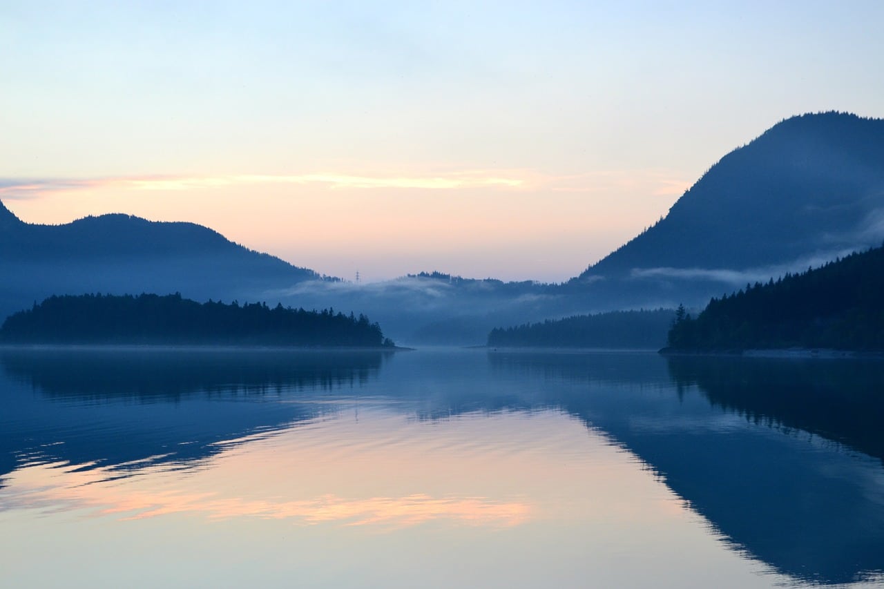
<path id="1" fill-rule="evenodd" d="M 4 586 L 884 586 L 884 363 L 0 350 Z"/>

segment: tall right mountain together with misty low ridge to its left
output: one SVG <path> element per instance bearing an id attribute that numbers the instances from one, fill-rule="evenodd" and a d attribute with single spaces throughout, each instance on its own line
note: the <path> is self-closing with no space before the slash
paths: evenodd
<path id="1" fill-rule="evenodd" d="M 747 282 L 884 239 L 884 120 L 781 121 L 714 164 L 665 218 L 560 285 L 438 272 L 374 285 L 302 283 L 284 303 L 365 312 L 396 340 L 480 344 L 492 328 L 612 310 L 702 307 Z"/>

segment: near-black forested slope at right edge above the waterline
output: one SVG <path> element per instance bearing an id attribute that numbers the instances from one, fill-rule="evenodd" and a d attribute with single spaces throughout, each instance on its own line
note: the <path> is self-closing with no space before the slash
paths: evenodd
<path id="1" fill-rule="evenodd" d="M 884 248 L 680 310 L 667 351 L 776 348 L 884 350 Z"/>

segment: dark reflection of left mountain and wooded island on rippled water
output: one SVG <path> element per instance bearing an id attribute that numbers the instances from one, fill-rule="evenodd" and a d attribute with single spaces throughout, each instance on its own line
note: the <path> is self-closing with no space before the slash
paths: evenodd
<path id="1" fill-rule="evenodd" d="M 137 468 L 195 465 L 220 452 L 219 441 L 334 410 L 256 400 L 362 386 L 377 377 L 383 357 L 368 351 L 3 349 L 0 477 L 33 462 L 117 470 L 133 461 L 141 461 Z"/>

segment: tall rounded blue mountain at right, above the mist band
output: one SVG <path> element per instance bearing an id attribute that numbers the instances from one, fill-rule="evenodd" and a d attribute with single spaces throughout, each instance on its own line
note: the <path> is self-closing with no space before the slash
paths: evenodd
<path id="1" fill-rule="evenodd" d="M 884 119 L 805 114 L 722 157 L 665 218 L 578 279 L 698 279 L 834 259 L 880 243 L 881 210 Z"/>

